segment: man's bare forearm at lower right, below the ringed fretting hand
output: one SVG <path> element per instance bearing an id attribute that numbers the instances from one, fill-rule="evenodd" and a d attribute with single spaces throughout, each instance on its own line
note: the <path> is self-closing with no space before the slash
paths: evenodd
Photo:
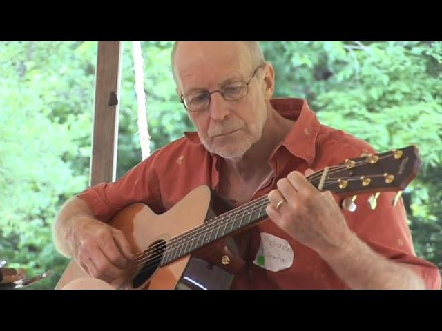
<path id="1" fill-rule="evenodd" d="M 344 247 L 321 254 L 338 277 L 354 289 L 424 289 L 410 265 L 396 263 L 372 250 L 356 234 Z"/>

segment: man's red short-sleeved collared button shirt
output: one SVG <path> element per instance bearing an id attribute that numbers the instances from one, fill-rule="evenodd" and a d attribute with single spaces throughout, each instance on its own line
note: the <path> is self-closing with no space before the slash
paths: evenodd
<path id="1" fill-rule="evenodd" d="M 345 159 L 360 157 L 363 152 L 376 153 L 372 146 L 340 130 L 323 126 L 316 114 L 302 99 L 273 99 L 272 106 L 282 116 L 296 121 L 285 141 L 273 152 L 269 163 L 273 176 L 262 185 L 252 199 L 276 188 L 276 182 L 293 170 L 304 173 L 307 168 L 322 170 L 327 165 L 337 165 Z M 195 132 L 173 141 L 157 150 L 151 157 L 131 169 L 115 183 L 100 183 L 88 188 L 79 197 L 86 201 L 95 217 L 108 221 L 113 215 L 134 202 L 148 205 L 154 212 L 162 213 L 200 185 L 217 189 L 221 157 L 209 153 Z M 393 207 L 395 193 L 383 193 L 378 198 L 376 210 L 367 204 L 369 194 L 356 199 L 356 212 L 343 210 L 349 228 L 373 250 L 394 261 L 414 265 L 427 288 L 439 289 L 441 278 L 436 265 L 416 257 L 403 201 Z M 339 198 L 336 198 L 339 201 Z M 250 241 L 246 251 L 246 265 L 234 281 L 234 289 L 339 289 L 347 288 L 329 265 L 305 245 L 292 239 L 271 220 L 264 221 L 249 231 Z M 262 245 L 262 236 L 273 246 L 289 245 L 287 265 L 280 270 L 268 268 L 260 254 L 270 254 L 279 259 L 282 251 L 268 253 Z M 268 240 L 267 240 L 268 239 Z M 276 240 L 276 241 L 275 241 Z M 262 250 L 264 249 L 264 251 Z M 281 255 L 282 257 L 282 255 Z M 278 261 L 277 261 L 278 262 Z M 278 264 L 276 262 L 276 264 Z"/>

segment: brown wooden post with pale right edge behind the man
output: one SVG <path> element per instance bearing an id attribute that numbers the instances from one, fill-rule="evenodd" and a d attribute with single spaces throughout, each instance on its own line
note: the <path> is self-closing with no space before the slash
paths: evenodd
<path id="1" fill-rule="evenodd" d="M 121 41 L 99 41 L 90 185 L 115 181 L 121 80 Z"/>

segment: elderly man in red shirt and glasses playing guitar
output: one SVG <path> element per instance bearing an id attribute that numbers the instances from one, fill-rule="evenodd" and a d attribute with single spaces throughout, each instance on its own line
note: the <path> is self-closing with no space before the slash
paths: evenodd
<path id="1" fill-rule="evenodd" d="M 321 125 L 306 101 L 272 99 L 275 72 L 259 43 L 175 43 L 172 67 L 198 132 L 68 201 L 54 227 L 61 253 L 112 283 L 133 254 L 106 222 L 134 202 L 165 212 L 207 185 L 236 206 L 268 194 L 270 220 L 236 236 L 245 263 L 231 288 L 440 288 L 436 266 L 414 254 L 403 203 L 392 206 L 393 193 L 381 195 L 376 210 L 356 201 L 349 212 L 306 179 L 375 151 Z"/>

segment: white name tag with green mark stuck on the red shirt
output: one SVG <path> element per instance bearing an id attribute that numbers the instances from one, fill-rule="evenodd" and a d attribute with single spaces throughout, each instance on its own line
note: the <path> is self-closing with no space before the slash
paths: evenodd
<path id="1" fill-rule="evenodd" d="M 253 263 L 270 271 L 280 271 L 293 265 L 294 252 L 289 242 L 261 232 L 261 243 Z"/>

